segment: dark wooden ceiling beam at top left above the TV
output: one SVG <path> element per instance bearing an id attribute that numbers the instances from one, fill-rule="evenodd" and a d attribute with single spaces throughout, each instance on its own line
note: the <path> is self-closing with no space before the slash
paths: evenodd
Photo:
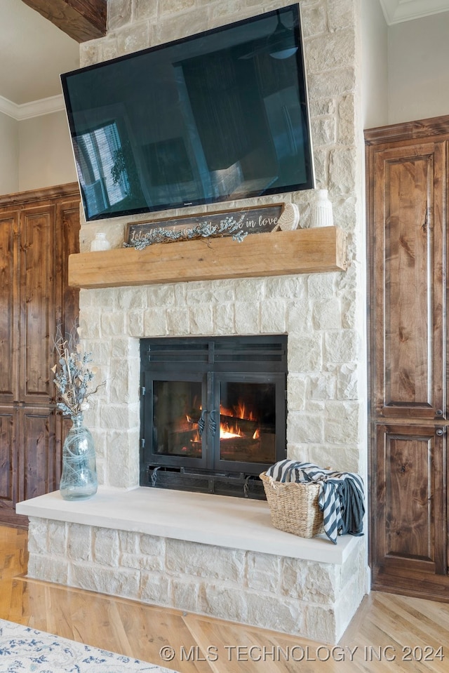
<path id="1" fill-rule="evenodd" d="M 22 0 L 77 42 L 106 34 L 107 0 Z"/>

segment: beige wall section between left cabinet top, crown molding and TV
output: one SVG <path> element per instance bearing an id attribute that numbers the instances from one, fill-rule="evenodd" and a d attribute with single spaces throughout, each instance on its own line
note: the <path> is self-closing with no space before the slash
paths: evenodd
<path id="1" fill-rule="evenodd" d="M 76 181 L 65 112 L 53 112 L 18 123 L 19 191 Z"/>

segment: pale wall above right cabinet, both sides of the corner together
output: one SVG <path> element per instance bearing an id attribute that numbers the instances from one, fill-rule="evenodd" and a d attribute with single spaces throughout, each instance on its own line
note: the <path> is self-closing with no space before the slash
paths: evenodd
<path id="1" fill-rule="evenodd" d="M 363 128 L 449 114 L 449 12 L 387 26 L 362 0 Z"/>

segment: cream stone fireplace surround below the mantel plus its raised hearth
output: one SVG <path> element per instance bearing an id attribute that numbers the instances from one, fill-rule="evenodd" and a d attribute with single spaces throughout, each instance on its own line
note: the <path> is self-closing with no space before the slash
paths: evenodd
<path id="1" fill-rule="evenodd" d="M 81 291 L 81 327 L 107 382 L 85 414 L 105 486 L 85 502 L 54 493 L 18 505 L 29 575 L 337 642 L 367 590 L 365 537 L 296 538 L 271 525 L 262 500 L 138 487 L 140 340 L 286 333 L 288 455 L 356 471 L 347 356 L 358 337 L 311 329 L 310 298 L 343 302 L 346 284 L 330 273 Z"/>

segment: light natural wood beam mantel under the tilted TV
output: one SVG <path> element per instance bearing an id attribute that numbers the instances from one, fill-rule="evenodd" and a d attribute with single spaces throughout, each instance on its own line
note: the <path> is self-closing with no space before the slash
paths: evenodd
<path id="1" fill-rule="evenodd" d="M 347 268 L 345 235 L 337 227 L 196 239 L 69 256 L 69 285 L 138 286 L 253 276 L 281 276 Z"/>

